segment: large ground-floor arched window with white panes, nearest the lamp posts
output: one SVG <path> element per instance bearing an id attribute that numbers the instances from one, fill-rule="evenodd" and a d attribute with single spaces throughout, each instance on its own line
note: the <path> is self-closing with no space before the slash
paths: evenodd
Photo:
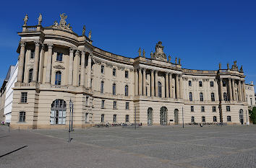
<path id="1" fill-rule="evenodd" d="M 54 100 L 51 104 L 51 124 L 66 124 L 66 102 Z"/>

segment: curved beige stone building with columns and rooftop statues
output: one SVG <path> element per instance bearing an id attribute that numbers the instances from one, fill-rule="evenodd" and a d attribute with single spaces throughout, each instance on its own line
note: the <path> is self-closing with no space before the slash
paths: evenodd
<path id="1" fill-rule="evenodd" d="M 244 72 L 234 65 L 218 70 L 182 68 L 171 62 L 158 42 L 150 58 L 139 50 L 127 58 L 95 47 L 92 32 L 72 31 L 67 16 L 42 27 L 27 26 L 20 35 L 14 85 L 12 128 L 67 128 L 69 100 L 74 128 L 97 123 L 244 124 L 248 119 Z"/>

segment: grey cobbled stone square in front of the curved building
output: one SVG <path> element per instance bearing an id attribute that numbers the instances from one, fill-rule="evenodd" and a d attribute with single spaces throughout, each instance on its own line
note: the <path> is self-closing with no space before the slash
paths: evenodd
<path id="1" fill-rule="evenodd" d="M 0 126 L 0 167 L 256 165 L 256 125 L 85 128 L 71 136 L 68 143 L 67 130 L 8 132 Z"/>

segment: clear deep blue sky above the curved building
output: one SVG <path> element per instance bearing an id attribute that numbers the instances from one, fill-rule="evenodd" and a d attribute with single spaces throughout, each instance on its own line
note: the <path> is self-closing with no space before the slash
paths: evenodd
<path id="1" fill-rule="evenodd" d="M 183 68 L 218 69 L 234 60 L 246 81 L 256 82 L 256 1 L 3 1 L 0 6 L 0 79 L 17 61 L 23 18 L 36 25 L 59 22 L 66 13 L 74 32 L 92 30 L 93 45 L 121 56 L 146 57 L 161 40 L 166 55 L 182 58 Z"/>

